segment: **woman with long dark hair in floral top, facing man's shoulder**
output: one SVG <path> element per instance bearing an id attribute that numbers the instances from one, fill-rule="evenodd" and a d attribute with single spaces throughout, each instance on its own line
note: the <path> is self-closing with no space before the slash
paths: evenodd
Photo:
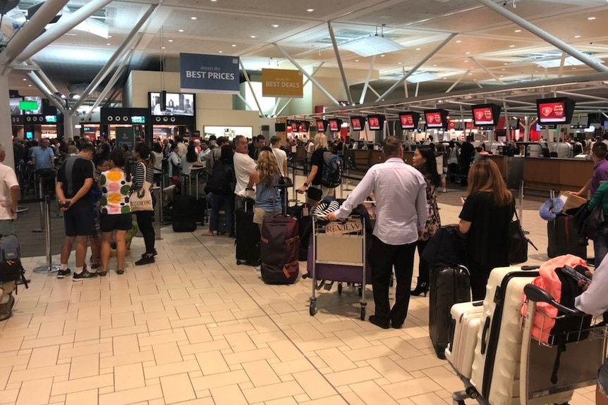
<path id="1" fill-rule="evenodd" d="M 422 237 L 418 239 L 418 282 L 416 288 L 411 291 L 412 295 L 425 294 L 429 290 L 429 270 L 430 264 L 420 256 L 427 246 L 429 239 L 437 232 L 442 225 L 439 219 L 437 208 L 437 187 L 442 184 L 441 177 L 437 173 L 437 162 L 435 161 L 434 151 L 430 146 L 422 145 L 414 152 L 412 163 L 415 168 L 420 170 L 427 182 L 427 205 L 429 206 L 429 219 L 425 223 L 425 230 Z"/>

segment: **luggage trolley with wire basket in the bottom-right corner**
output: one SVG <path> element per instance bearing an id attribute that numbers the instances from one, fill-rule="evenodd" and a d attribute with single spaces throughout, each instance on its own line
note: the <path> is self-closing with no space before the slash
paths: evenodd
<path id="1" fill-rule="evenodd" d="M 606 325 L 600 323 L 600 319 L 558 304 L 548 292 L 535 285 L 526 285 L 523 292 L 528 298 L 528 312 L 523 318 L 521 344 L 521 405 L 537 403 L 537 399 L 542 400 L 547 395 L 595 385 L 597 370 L 606 358 Z M 551 318 L 537 311 L 538 302 L 546 302 L 566 315 Z M 532 327 L 535 317 L 538 320 L 539 316 L 543 326 L 548 321 L 565 320 L 572 327 L 560 336 L 547 335 L 542 332 L 545 328 L 542 328 L 537 340 L 533 337 Z M 557 382 L 554 384 L 551 377 L 559 342 L 568 343 L 566 350 L 561 352 Z"/>

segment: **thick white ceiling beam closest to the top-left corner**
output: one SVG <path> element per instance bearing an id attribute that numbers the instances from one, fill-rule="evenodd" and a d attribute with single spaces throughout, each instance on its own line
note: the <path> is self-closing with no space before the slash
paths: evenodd
<path id="1" fill-rule="evenodd" d="M 21 27 L 6 45 L 0 57 L 0 66 L 2 66 L 0 73 L 6 72 L 8 65 L 18 58 L 23 49 L 40 35 L 44 27 L 55 18 L 55 15 L 66 4 L 68 4 L 68 0 L 47 0 L 40 6 L 32 18 Z"/>

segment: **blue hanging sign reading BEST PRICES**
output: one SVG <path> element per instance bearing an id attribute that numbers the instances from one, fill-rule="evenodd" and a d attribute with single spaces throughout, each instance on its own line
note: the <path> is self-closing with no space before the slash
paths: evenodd
<path id="1" fill-rule="evenodd" d="M 238 56 L 179 54 L 182 92 L 238 94 Z"/>

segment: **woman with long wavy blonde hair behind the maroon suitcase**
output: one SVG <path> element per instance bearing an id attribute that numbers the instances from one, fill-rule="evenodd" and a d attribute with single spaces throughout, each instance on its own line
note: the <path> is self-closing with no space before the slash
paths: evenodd
<path id="1" fill-rule="evenodd" d="M 281 170 L 276 163 L 276 158 L 269 147 L 263 147 L 257 156 L 255 172 L 249 177 L 247 189 L 253 189 L 255 184 L 255 208 L 253 210 L 253 223 L 257 223 L 262 233 L 264 217 L 273 216 L 281 212 L 281 193 L 276 185 L 279 185 Z M 255 270 L 260 270 L 257 266 Z"/>

